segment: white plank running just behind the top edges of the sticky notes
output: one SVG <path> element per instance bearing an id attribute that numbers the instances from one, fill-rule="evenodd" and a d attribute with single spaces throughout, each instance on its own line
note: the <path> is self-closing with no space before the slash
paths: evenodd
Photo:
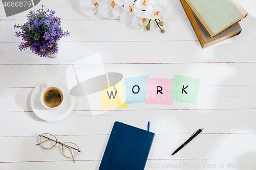
<path id="1" fill-rule="evenodd" d="M 0 70 L 2 72 L 0 75 L 0 79 L 2 80 L 0 87 L 36 87 L 39 83 L 48 79 L 59 79 L 66 81 L 66 69 L 68 66 L 69 64 L 0 65 Z M 95 64 L 95 67 L 101 66 L 102 65 Z M 251 77 L 254 75 L 254 62 L 193 64 L 141 63 L 106 64 L 103 66 L 106 72 L 118 72 L 123 75 L 123 78 L 148 75 L 151 78 L 172 79 L 173 75 L 184 75 L 201 79 L 201 86 L 256 84 L 256 80 L 251 79 Z M 13 79 L 13 77 L 15 77 L 15 79 Z"/>

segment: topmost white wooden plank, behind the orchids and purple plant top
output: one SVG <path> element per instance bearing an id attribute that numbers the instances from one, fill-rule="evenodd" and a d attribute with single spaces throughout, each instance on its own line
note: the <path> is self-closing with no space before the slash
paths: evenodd
<path id="1" fill-rule="evenodd" d="M 180 4 L 180 1 L 176 0 L 159 0 L 159 3 L 163 4 L 165 6 L 166 13 L 164 15 L 164 19 L 187 19 L 186 14 L 183 11 L 183 8 Z M 239 1 L 239 3 L 243 6 L 243 8 L 248 12 L 248 18 L 253 18 L 256 16 L 256 12 L 254 11 L 256 7 L 256 3 L 253 0 L 246 0 L 246 1 Z M 39 9 L 41 5 L 45 5 L 46 8 L 52 9 L 56 11 L 56 15 L 64 20 L 102 20 L 102 17 L 96 13 L 93 18 L 88 18 L 85 15 L 82 14 L 80 7 L 79 7 L 79 1 L 73 1 L 73 0 L 54 0 L 54 1 L 41 1 L 37 6 L 35 6 L 35 9 Z M 14 19 L 26 19 L 26 15 L 28 14 L 30 10 L 24 11 L 22 13 L 9 16 L 8 18 L 5 15 L 3 6 L 0 7 L 0 19 L 8 19 L 8 20 L 14 20 Z M 118 20 L 118 17 L 110 18 L 109 20 L 116 19 Z"/>

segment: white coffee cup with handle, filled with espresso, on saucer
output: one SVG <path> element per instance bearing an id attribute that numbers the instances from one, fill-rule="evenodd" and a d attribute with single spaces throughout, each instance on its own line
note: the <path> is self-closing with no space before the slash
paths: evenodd
<path id="1" fill-rule="evenodd" d="M 42 105 L 47 109 L 57 109 L 63 104 L 64 94 L 62 90 L 55 86 L 49 86 L 48 82 L 45 82 L 46 88 L 42 90 L 40 100 Z"/>

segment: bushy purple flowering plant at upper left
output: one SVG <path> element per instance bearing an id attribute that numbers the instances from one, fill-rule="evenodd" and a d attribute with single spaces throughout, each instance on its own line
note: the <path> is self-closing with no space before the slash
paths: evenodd
<path id="1" fill-rule="evenodd" d="M 44 9 L 44 7 L 42 5 L 37 12 L 30 11 L 27 15 L 28 22 L 24 25 L 19 26 L 16 23 L 14 25 L 14 28 L 22 30 L 15 32 L 16 36 L 21 36 L 22 40 L 25 40 L 18 46 L 19 50 L 26 50 L 30 47 L 30 50 L 40 57 L 57 53 L 57 40 L 70 35 L 68 31 L 63 32 L 61 29 L 61 21 L 59 17 L 54 16 L 55 11 Z"/>

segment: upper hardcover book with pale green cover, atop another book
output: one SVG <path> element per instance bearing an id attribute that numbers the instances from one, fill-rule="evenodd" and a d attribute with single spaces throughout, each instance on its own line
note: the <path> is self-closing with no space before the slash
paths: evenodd
<path id="1" fill-rule="evenodd" d="M 247 16 L 237 0 L 185 0 L 209 36 L 215 37 Z"/>

